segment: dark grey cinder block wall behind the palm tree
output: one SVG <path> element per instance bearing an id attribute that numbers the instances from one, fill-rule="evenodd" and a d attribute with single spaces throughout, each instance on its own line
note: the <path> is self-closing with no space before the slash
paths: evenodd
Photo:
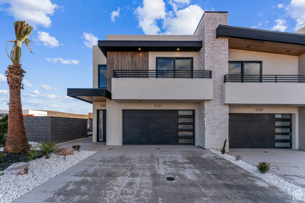
<path id="1" fill-rule="evenodd" d="M 23 117 L 27 140 L 31 142 L 68 142 L 88 137 L 85 118 L 53 116 Z"/>

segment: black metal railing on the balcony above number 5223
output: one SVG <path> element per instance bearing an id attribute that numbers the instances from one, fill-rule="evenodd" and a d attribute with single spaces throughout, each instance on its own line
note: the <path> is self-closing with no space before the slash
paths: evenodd
<path id="1" fill-rule="evenodd" d="M 305 75 L 224 75 L 224 82 L 305 82 Z"/>

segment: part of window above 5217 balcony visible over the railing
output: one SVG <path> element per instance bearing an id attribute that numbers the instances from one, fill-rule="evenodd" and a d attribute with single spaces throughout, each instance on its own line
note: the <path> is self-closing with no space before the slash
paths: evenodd
<path id="1" fill-rule="evenodd" d="M 193 58 L 156 57 L 156 70 L 193 70 Z"/>

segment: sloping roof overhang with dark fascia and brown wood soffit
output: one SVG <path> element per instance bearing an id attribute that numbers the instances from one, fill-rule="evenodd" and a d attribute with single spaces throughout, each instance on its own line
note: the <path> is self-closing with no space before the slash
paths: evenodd
<path id="1" fill-rule="evenodd" d="M 305 54 L 304 34 L 219 25 L 216 37 L 228 38 L 229 49 L 291 56 Z"/>

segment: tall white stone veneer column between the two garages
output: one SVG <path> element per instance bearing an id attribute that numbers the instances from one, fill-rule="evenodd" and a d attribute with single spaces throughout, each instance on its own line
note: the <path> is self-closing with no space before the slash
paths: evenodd
<path id="1" fill-rule="evenodd" d="M 199 67 L 212 71 L 214 87 L 213 100 L 199 103 L 199 145 L 220 150 L 228 139 L 229 107 L 222 102 L 222 84 L 228 74 L 228 38 L 216 38 L 218 25 L 228 25 L 228 12 L 205 12 L 195 35 L 203 40 Z M 228 146 L 227 142 L 226 151 Z"/>

